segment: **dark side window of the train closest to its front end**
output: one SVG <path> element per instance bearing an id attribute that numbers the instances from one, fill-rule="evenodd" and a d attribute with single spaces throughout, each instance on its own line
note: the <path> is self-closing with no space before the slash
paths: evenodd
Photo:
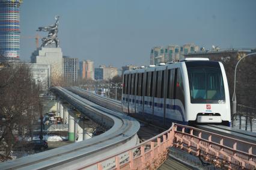
<path id="1" fill-rule="evenodd" d="M 176 68 L 175 73 L 175 99 L 180 100 L 184 106 L 184 87 L 183 87 L 183 79 L 181 75 L 180 68 Z"/>

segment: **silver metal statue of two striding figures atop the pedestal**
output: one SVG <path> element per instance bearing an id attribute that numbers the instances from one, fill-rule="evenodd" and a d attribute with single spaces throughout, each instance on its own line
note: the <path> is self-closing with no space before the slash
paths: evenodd
<path id="1" fill-rule="evenodd" d="M 54 44 L 56 45 L 56 47 L 59 47 L 59 39 L 58 39 L 58 24 L 59 24 L 59 16 L 55 16 L 55 24 L 54 25 L 50 25 L 48 27 L 39 27 L 37 29 L 37 31 L 44 31 L 44 32 L 48 32 L 48 36 L 42 38 L 42 44 L 41 47 L 45 47 L 48 44 Z"/>

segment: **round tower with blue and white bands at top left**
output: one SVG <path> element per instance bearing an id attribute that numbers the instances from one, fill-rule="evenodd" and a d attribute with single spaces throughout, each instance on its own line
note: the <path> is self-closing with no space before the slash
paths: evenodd
<path id="1" fill-rule="evenodd" d="M 0 0 L 0 61 L 19 61 L 19 7 L 22 2 L 22 0 Z"/>

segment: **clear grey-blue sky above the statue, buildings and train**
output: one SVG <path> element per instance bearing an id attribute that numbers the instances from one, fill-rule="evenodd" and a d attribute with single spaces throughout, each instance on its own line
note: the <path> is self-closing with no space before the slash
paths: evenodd
<path id="1" fill-rule="evenodd" d="M 195 43 L 206 49 L 256 47 L 256 1 L 25 0 L 20 6 L 21 60 L 30 61 L 38 26 L 59 15 L 64 55 L 121 67 L 150 62 L 153 46 Z M 47 35 L 40 32 L 40 35 Z M 40 41 L 41 43 L 41 41 Z"/>

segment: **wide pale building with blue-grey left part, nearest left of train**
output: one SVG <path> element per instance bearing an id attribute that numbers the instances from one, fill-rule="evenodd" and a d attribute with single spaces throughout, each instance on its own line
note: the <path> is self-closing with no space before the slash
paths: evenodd
<path id="1" fill-rule="evenodd" d="M 105 65 L 100 65 L 99 68 L 95 68 L 96 80 L 111 80 L 113 77 L 117 75 L 118 69 L 115 67 L 105 67 Z"/>

